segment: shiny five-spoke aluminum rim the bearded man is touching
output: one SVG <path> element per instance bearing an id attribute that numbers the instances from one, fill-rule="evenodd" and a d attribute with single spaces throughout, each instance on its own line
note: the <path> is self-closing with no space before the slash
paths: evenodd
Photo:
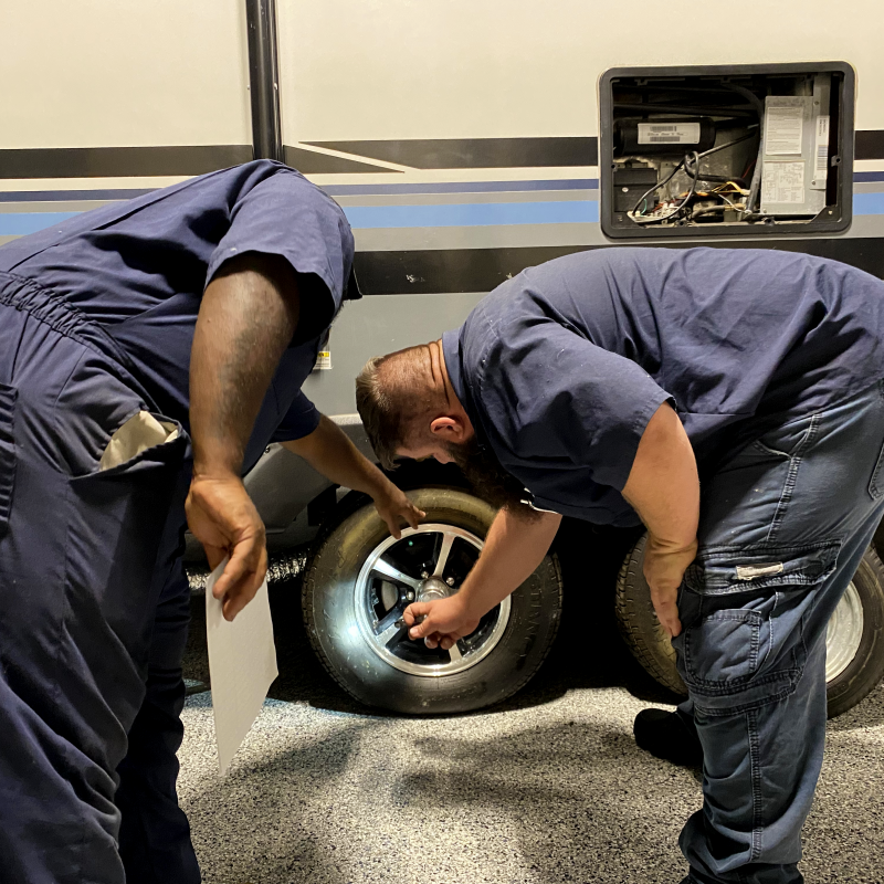
<path id="1" fill-rule="evenodd" d="M 403 660 L 396 653 L 397 649 L 399 649 L 399 644 L 403 641 L 410 642 L 411 640 L 408 639 L 407 630 L 396 628 L 393 614 L 399 613 L 399 617 L 401 617 L 400 609 L 403 610 L 411 602 L 404 603 L 400 598 L 400 601 L 390 608 L 385 613 L 383 618 L 377 618 L 372 601 L 372 593 L 375 598 L 377 598 L 375 581 L 387 581 L 394 585 L 399 590 L 410 589 L 417 593 L 422 583 L 422 579 L 398 569 L 394 565 L 385 559 L 385 555 L 389 555 L 398 544 L 408 543 L 409 538 L 425 534 L 442 536 L 439 555 L 434 561 L 434 568 L 431 575 L 439 579 L 444 579 L 449 565 L 449 556 L 455 543 L 467 543 L 477 552 L 482 551 L 483 541 L 478 537 L 453 525 L 429 523 L 420 525 L 417 528 L 404 528 L 400 539 L 397 540 L 394 537 L 388 537 L 369 554 L 365 565 L 359 571 L 359 576 L 356 578 L 354 607 L 356 609 L 356 623 L 360 635 L 385 663 L 409 675 L 439 678 L 444 675 L 455 675 L 459 672 L 472 669 L 497 646 L 509 622 L 511 601 L 507 596 L 501 604 L 494 609 L 492 613 L 496 613 L 496 618 L 493 621 L 488 621 L 484 632 L 483 625 L 480 623 L 478 629 L 473 633 L 473 635 L 480 633 L 475 642 L 471 641 L 472 636 L 466 636 L 461 639 L 451 651 L 446 652 L 439 649 L 439 655 L 443 657 L 448 655 L 448 662 L 444 659 L 434 662 L 432 657 L 429 656 L 425 663 L 414 662 Z M 453 592 L 456 592 L 456 588 L 452 590 L 452 594 Z M 486 617 L 491 615 L 492 614 L 488 614 Z M 401 651 L 402 649 L 399 650 Z"/>

